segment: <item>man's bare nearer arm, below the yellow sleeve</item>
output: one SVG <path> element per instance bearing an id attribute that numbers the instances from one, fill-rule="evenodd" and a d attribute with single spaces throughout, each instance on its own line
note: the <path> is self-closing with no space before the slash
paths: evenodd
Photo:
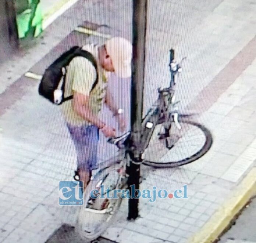
<path id="1" fill-rule="evenodd" d="M 105 123 L 101 121 L 96 115 L 94 115 L 90 108 L 88 107 L 88 100 L 89 96 L 88 95 L 83 95 L 79 94 L 77 92 L 74 93 L 73 95 L 73 109 L 75 112 L 83 117 L 86 121 L 89 121 L 93 125 L 102 128 L 105 126 Z"/>

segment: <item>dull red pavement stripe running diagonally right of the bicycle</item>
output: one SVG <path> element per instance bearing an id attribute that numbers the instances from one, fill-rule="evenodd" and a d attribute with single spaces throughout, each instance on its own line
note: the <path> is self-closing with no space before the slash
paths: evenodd
<path id="1" fill-rule="evenodd" d="M 205 112 L 256 58 L 256 36 L 186 106 L 185 110 Z"/>

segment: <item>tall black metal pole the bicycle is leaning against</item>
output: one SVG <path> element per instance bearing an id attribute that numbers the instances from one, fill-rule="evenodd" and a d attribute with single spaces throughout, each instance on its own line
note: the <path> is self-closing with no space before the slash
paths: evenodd
<path id="1" fill-rule="evenodd" d="M 141 148 L 141 123 L 143 112 L 143 86 L 145 69 L 145 46 L 147 26 L 147 0 L 133 0 L 133 59 L 132 59 L 132 86 L 131 86 L 131 142 L 130 163 L 127 168 L 130 195 L 133 189 L 139 189 L 140 163 L 143 150 Z M 135 191 L 135 197 L 138 191 Z M 138 198 L 129 199 L 128 220 L 138 217 Z"/>

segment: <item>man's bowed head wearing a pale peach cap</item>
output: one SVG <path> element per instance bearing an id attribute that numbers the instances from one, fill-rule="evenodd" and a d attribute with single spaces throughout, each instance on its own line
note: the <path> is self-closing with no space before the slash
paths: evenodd
<path id="1" fill-rule="evenodd" d="M 122 37 L 107 40 L 99 49 L 99 61 L 108 72 L 121 78 L 131 77 L 132 45 Z"/>

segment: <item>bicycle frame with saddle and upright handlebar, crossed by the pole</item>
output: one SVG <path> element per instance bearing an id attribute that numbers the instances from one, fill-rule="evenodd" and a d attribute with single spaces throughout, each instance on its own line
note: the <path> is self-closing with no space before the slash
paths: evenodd
<path id="1" fill-rule="evenodd" d="M 181 62 L 184 58 L 181 60 Z M 181 65 L 180 63 L 177 64 L 174 60 L 174 50 L 170 50 L 170 73 L 171 73 L 171 81 L 170 86 L 167 88 L 158 88 L 159 98 L 154 102 L 152 108 L 149 109 L 146 116 L 142 120 L 142 137 L 140 141 L 141 150 L 145 151 L 147 146 L 149 145 L 149 141 L 152 137 L 154 128 L 158 124 L 163 124 L 165 128 L 165 133 L 170 129 L 171 123 L 174 120 L 173 114 L 177 114 L 177 108 L 175 105 L 178 102 L 174 102 L 174 86 L 175 80 L 177 77 L 177 73 L 181 72 Z M 168 134 L 166 134 L 168 136 Z M 122 135 L 119 138 L 110 138 L 108 140 L 111 144 L 115 144 L 120 148 L 118 151 L 118 155 L 112 157 L 111 159 L 107 160 L 106 162 L 102 163 L 98 167 L 98 172 L 113 166 L 114 164 L 122 161 L 125 159 L 125 154 L 131 151 L 133 141 L 130 139 L 130 132 Z M 98 173 L 97 172 L 97 173 Z M 96 173 L 96 174 L 97 174 Z M 96 175 L 95 174 L 95 175 Z"/>

